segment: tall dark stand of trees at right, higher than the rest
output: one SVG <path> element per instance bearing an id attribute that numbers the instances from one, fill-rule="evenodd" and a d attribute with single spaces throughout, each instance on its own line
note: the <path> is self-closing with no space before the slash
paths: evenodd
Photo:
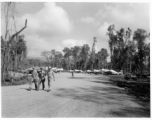
<path id="1" fill-rule="evenodd" d="M 130 28 L 116 30 L 115 25 L 110 25 L 107 30 L 111 69 L 135 74 L 150 72 L 150 33 L 144 29 L 134 33 Z"/>

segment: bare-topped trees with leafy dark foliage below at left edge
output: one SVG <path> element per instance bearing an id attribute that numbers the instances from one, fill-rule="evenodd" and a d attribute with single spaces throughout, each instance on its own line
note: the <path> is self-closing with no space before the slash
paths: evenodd
<path id="1" fill-rule="evenodd" d="M 1 74 L 2 81 L 4 82 L 8 77 L 9 70 L 16 70 L 27 55 L 24 36 L 20 35 L 27 27 L 27 20 L 25 21 L 25 26 L 19 31 L 16 31 L 15 7 L 15 2 L 2 3 L 2 20 L 5 23 L 5 32 L 4 37 L 1 36 Z"/>

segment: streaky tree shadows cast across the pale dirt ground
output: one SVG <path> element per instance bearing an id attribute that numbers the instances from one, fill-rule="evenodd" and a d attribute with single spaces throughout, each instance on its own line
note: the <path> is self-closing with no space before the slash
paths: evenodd
<path id="1" fill-rule="evenodd" d="M 92 102 L 104 106 L 119 106 L 119 109 L 109 111 L 114 117 L 150 117 L 150 105 L 145 107 L 136 101 L 136 98 L 125 93 L 124 88 L 117 87 L 103 77 L 74 77 L 69 79 L 87 80 L 88 82 L 99 83 L 90 87 L 74 87 L 57 89 L 54 96 L 71 98 L 85 102 Z M 130 104 L 134 104 L 133 106 Z"/>

